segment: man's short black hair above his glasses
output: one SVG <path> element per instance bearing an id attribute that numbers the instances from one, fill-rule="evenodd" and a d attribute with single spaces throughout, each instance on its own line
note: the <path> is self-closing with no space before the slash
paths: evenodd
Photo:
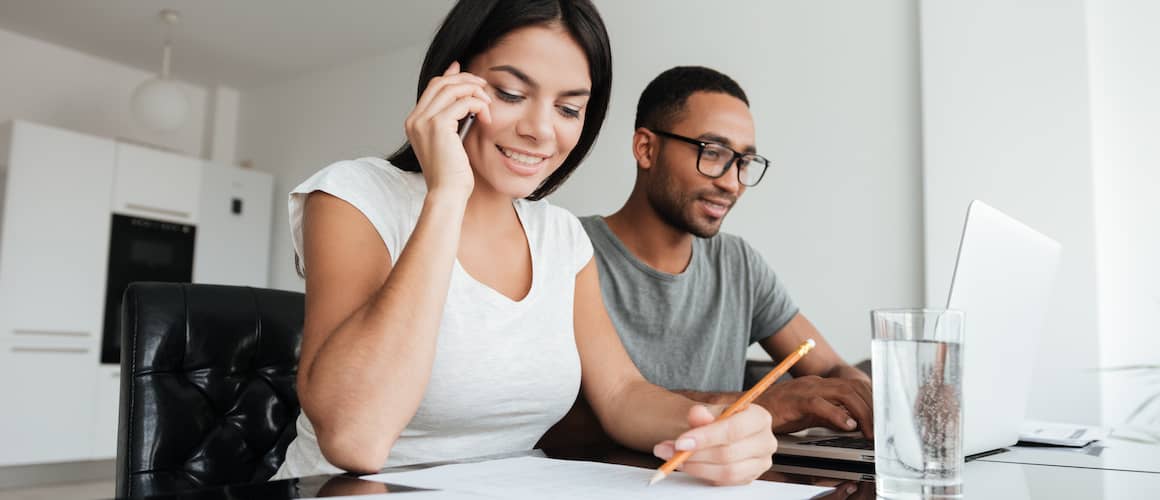
<path id="1" fill-rule="evenodd" d="M 684 102 L 695 92 L 728 94 L 749 106 L 745 90 L 732 78 L 704 66 L 676 66 L 659 74 L 640 93 L 632 128 L 667 130 L 684 111 Z"/>

